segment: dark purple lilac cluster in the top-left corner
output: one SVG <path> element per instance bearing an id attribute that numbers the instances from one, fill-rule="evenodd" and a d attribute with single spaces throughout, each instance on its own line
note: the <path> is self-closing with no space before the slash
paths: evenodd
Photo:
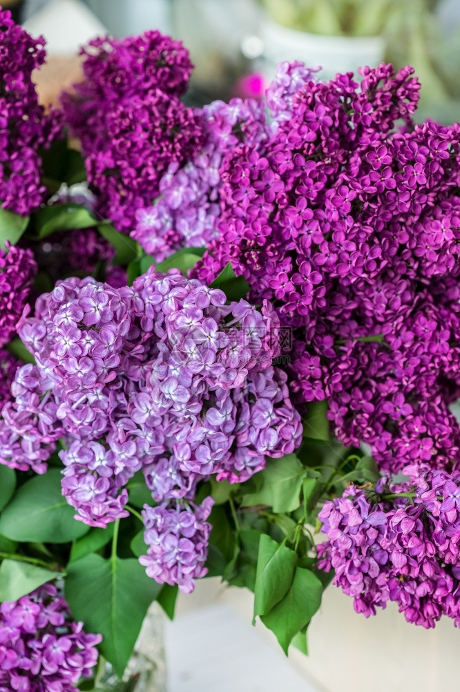
<path id="1" fill-rule="evenodd" d="M 61 129 L 57 112 L 39 105 L 32 71 L 45 62 L 44 39 L 32 39 L 0 9 L 0 200 L 23 216 L 46 195 L 41 183 L 40 147 L 48 147 Z"/>

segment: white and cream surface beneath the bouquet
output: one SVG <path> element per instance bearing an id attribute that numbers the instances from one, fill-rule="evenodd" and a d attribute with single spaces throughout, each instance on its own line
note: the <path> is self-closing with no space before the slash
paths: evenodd
<path id="1" fill-rule="evenodd" d="M 251 626 L 252 606 L 251 593 L 218 579 L 180 595 L 177 620 L 166 629 L 169 692 L 460 690 L 460 630 L 450 619 L 424 630 L 394 603 L 365 619 L 330 586 L 309 627 L 309 655 L 291 647 L 287 659 L 269 630 Z"/>

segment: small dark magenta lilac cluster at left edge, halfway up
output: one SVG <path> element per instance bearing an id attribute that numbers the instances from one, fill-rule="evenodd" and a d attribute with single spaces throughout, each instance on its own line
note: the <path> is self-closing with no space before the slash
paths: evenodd
<path id="1" fill-rule="evenodd" d="M 0 347 L 15 334 L 36 271 L 30 250 L 8 243 L 0 250 Z"/>

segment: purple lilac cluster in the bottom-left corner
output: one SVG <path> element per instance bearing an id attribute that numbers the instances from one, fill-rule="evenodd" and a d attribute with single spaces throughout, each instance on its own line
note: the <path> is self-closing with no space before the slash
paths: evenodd
<path id="1" fill-rule="evenodd" d="M 70 619 L 55 586 L 0 604 L 0 692 L 75 692 L 97 663 L 101 635 Z"/>

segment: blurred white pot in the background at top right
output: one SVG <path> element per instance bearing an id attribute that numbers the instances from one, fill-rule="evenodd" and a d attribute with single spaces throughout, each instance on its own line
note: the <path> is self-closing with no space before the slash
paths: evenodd
<path id="1" fill-rule="evenodd" d="M 310 67 L 320 66 L 321 79 L 329 80 L 338 72 L 354 72 L 358 67 L 375 67 L 383 60 L 385 42 L 381 36 L 322 36 L 297 31 L 270 19 L 260 26 L 264 44 L 265 78 L 274 77 L 276 65 L 284 60 L 302 60 Z"/>

